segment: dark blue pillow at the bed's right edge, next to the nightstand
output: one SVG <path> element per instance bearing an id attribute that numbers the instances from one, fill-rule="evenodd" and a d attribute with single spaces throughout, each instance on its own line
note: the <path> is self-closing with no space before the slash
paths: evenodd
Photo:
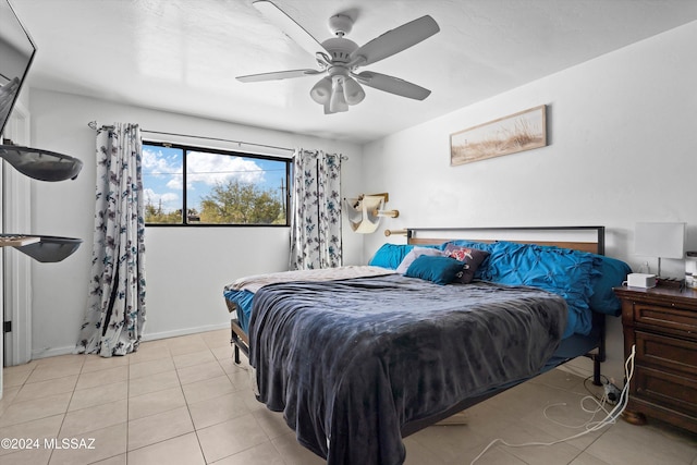
<path id="1" fill-rule="evenodd" d="M 594 293 L 590 295 L 590 308 L 601 314 L 619 317 L 622 313 L 622 304 L 612 287 L 622 285 L 632 272 L 632 268 L 616 258 L 597 255 L 594 269 L 598 271 L 591 280 Z"/>

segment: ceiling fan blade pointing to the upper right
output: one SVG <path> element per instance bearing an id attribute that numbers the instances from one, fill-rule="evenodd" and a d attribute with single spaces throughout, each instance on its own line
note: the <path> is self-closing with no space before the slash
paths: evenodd
<path id="1" fill-rule="evenodd" d="M 436 20 L 427 14 L 376 37 L 351 53 L 351 59 L 354 61 L 363 57 L 365 61 L 359 65 L 375 63 L 415 46 L 439 30 Z"/>

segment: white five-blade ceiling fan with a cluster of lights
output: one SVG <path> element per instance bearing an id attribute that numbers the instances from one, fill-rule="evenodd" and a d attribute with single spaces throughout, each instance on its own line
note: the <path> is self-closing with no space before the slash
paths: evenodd
<path id="1" fill-rule="evenodd" d="M 429 15 L 388 30 L 363 47 L 358 47 L 356 42 L 344 37 L 351 32 L 354 22 L 346 14 L 340 13 L 329 19 L 329 28 L 334 37 L 320 44 L 272 2 L 259 0 L 252 4 L 291 39 L 315 56 L 320 69 L 249 74 L 237 76 L 237 81 L 253 83 L 327 74 L 309 93 L 313 100 L 325 107 L 327 114 L 348 111 L 350 105 L 359 103 L 365 98 L 360 84 L 416 100 L 424 100 L 431 93 L 416 84 L 387 74 L 372 71 L 356 73 L 359 66 L 372 64 L 406 50 L 438 33 L 440 27 Z"/>

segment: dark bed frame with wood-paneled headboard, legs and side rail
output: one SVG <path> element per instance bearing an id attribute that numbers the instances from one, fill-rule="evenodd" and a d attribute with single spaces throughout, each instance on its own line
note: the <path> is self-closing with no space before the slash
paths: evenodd
<path id="1" fill-rule="evenodd" d="M 494 242 L 494 241 L 510 241 L 523 244 L 539 244 L 550 245 L 563 248 L 571 248 L 575 250 L 589 252 L 592 254 L 604 255 L 604 227 L 522 227 L 522 228 L 409 228 L 403 232 L 406 234 L 407 244 L 412 245 L 433 245 L 442 244 L 449 240 L 472 240 L 477 242 Z M 480 238 L 481 234 L 491 234 L 496 238 Z M 515 238 L 527 237 L 530 235 L 538 236 L 553 236 L 568 233 L 573 235 L 583 235 L 584 237 L 590 237 L 589 240 L 529 240 L 529 238 Z M 438 237 L 439 234 L 445 234 L 443 237 Z M 225 299 L 225 305 L 230 313 L 236 310 L 235 305 Z M 231 344 L 234 347 L 234 362 L 240 364 L 240 352 L 242 351 L 246 357 L 249 357 L 249 339 L 247 334 L 242 330 L 240 322 L 236 318 L 232 318 L 230 322 L 231 327 Z M 588 344 L 588 352 L 584 356 L 590 358 L 594 363 L 594 376 L 592 382 L 596 386 L 601 386 L 600 380 L 600 364 L 606 360 L 606 316 L 603 314 L 594 313 L 594 329 L 595 334 L 586 342 Z M 572 335 L 572 338 L 574 338 Z M 568 338 L 571 340 L 572 338 Z M 565 340 L 566 341 L 566 340 Z M 568 358 L 557 359 L 553 366 L 562 365 L 573 358 L 577 354 L 570 356 Z M 505 386 L 491 392 L 487 392 L 484 395 L 472 397 L 455 405 L 453 408 L 443 412 L 438 418 L 426 418 L 424 420 L 412 421 L 404 426 L 403 436 L 412 435 L 427 426 L 430 426 L 439 420 L 443 420 L 452 415 L 464 411 L 465 408 L 486 401 L 493 395 L 497 395 L 516 384 Z"/>

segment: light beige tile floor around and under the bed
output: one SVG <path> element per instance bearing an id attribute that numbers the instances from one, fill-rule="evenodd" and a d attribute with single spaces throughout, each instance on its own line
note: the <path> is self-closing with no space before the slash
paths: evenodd
<path id="1" fill-rule="evenodd" d="M 211 331 L 146 342 L 125 357 L 65 355 L 5 368 L 0 439 L 37 440 L 39 448 L 0 449 L 0 463 L 322 464 L 297 444 L 281 414 L 255 400 L 229 338 L 228 330 Z M 466 425 L 406 438 L 406 464 L 469 464 L 497 438 L 553 442 L 576 435 L 571 426 L 590 417 L 580 407 L 587 394 L 583 378 L 553 370 L 469 408 Z M 45 438 L 61 446 L 45 448 Z M 74 442 L 63 445 L 63 438 Z M 555 445 L 497 443 L 476 463 L 697 465 L 697 436 L 620 420 Z"/>

